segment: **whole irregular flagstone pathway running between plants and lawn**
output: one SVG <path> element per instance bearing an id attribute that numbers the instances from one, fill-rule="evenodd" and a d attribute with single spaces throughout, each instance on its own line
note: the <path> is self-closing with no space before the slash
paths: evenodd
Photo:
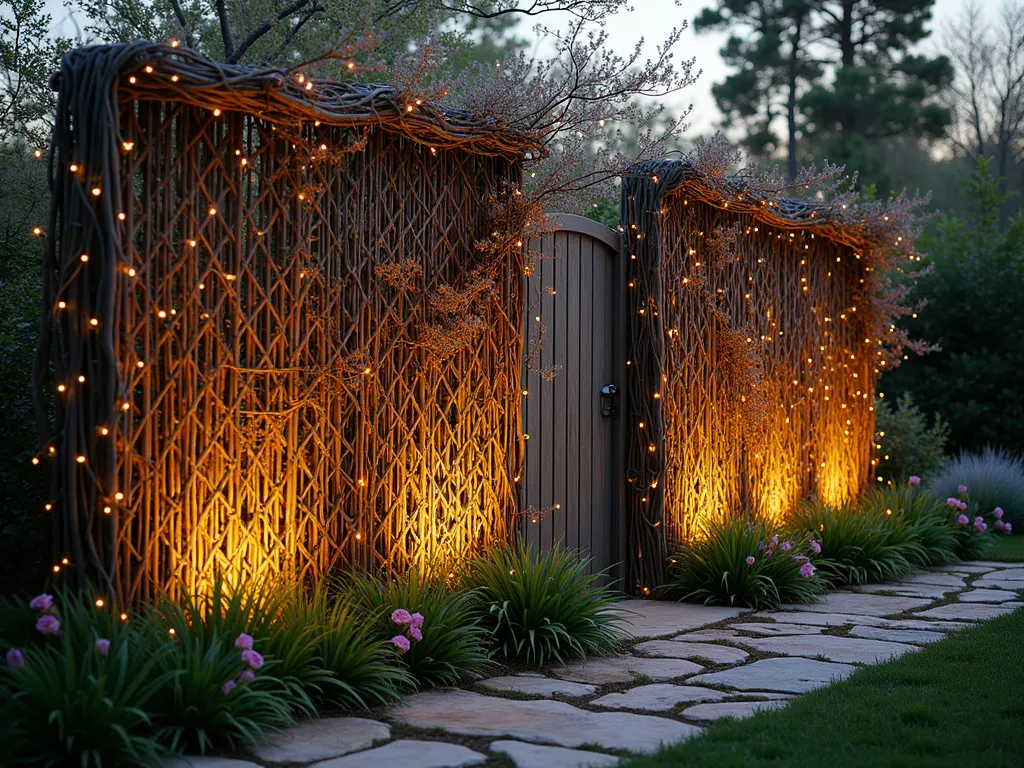
<path id="1" fill-rule="evenodd" d="M 1024 606 L 1024 565 L 971 562 L 775 611 L 628 600 L 630 653 L 417 693 L 379 720 L 324 718 L 252 757 L 173 768 L 611 766 Z"/>

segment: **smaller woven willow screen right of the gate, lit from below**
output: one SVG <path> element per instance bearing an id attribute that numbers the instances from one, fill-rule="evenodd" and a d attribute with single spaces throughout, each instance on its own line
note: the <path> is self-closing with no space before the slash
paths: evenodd
<path id="1" fill-rule="evenodd" d="M 876 340 L 857 231 L 660 161 L 624 182 L 636 587 L 742 512 L 842 503 L 871 468 Z M 865 251 L 866 253 L 866 251 Z M 857 313 L 860 305 L 860 313 Z"/>

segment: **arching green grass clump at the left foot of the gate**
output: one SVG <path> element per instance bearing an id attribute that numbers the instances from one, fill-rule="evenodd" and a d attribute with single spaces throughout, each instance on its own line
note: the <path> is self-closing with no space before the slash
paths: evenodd
<path id="1" fill-rule="evenodd" d="M 626 615 L 590 562 L 561 545 L 538 552 L 521 539 L 474 560 L 466 584 L 496 652 L 540 667 L 614 650 Z"/>

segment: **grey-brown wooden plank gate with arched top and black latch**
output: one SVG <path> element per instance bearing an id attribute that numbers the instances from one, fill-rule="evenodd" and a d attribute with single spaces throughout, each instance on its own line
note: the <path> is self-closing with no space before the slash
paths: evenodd
<path id="1" fill-rule="evenodd" d="M 521 528 L 542 548 L 561 541 L 588 553 L 595 571 L 607 568 L 624 586 L 626 265 L 618 232 L 581 216 L 552 218 L 561 226 L 531 244 L 542 258 L 525 297 Z"/>

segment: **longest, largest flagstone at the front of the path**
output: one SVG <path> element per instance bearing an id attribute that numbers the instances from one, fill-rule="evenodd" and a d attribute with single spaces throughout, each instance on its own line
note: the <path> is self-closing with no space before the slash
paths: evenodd
<path id="1" fill-rule="evenodd" d="M 464 690 L 417 693 L 388 714 L 392 720 L 418 728 L 443 728 L 467 736 L 510 736 L 559 746 L 597 744 L 644 753 L 700 730 L 652 715 L 588 712 L 564 701 L 516 701 Z"/>

